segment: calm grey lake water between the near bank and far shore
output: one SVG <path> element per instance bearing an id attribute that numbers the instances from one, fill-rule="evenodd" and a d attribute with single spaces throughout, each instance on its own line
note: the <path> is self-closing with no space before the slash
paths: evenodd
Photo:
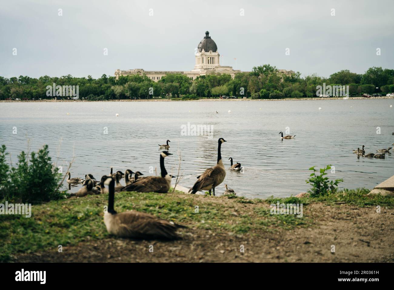
<path id="1" fill-rule="evenodd" d="M 53 159 L 65 170 L 75 156 L 71 177 L 92 173 L 99 179 L 110 166 L 145 175 L 154 175 L 152 169 L 157 167 L 160 174 L 158 144 L 169 139 L 174 155 L 165 159 L 166 169 L 177 174 L 180 152 L 184 175 L 180 184 L 190 187 L 197 175 L 216 164 L 217 139 L 223 137 L 227 140 L 222 145 L 223 162 L 229 167 L 232 157 L 245 170 L 228 171 L 218 194 L 227 183 L 247 197 L 295 195 L 309 188 L 305 183 L 309 167 L 327 164 L 336 170 L 329 177 L 344 179 L 342 187 L 373 188 L 394 175 L 394 152 L 381 160 L 357 158 L 352 149 L 365 145 L 366 152 L 375 153 L 392 147 L 390 105 L 394 100 L 10 102 L 0 103 L 0 143 L 7 145 L 13 162 L 26 151 L 28 140 L 34 151 L 48 144 Z M 181 126 L 188 122 L 212 126 L 213 138 L 182 136 Z M 377 126 L 381 134 L 376 133 Z M 104 127 L 108 134 L 103 134 Z M 278 133 L 286 127 L 297 135 L 295 139 L 281 141 Z"/>

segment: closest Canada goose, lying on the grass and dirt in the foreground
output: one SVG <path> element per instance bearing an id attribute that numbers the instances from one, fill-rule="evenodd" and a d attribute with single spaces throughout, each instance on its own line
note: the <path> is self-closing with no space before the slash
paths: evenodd
<path id="1" fill-rule="evenodd" d="M 178 228 L 184 227 L 182 225 L 135 210 L 118 214 L 113 208 L 115 182 L 112 177 L 108 177 L 105 183 L 109 184 L 109 194 L 108 210 L 104 213 L 104 224 L 110 234 L 123 238 L 178 238 L 176 231 Z"/>

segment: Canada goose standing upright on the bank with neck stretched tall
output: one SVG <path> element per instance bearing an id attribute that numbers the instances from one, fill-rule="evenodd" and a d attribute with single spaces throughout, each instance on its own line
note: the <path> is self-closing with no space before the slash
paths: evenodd
<path id="1" fill-rule="evenodd" d="M 223 161 L 221 160 L 220 152 L 221 144 L 223 142 L 226 142 L 226 140 L 220 138 L 217 142 L 218 145 L 216 165 L 214 167 L 206 169 L 204 173 L 200 175 L 193 187 L 190 188 L 189 193 L 195 194 L 197 191 L 209 190 L 209 195 L 211 195 L 211 190 L 213 190 L 215 196 L 215 187 L 221 184 L 226 177 L 226 171 L 223 165 Z"/>

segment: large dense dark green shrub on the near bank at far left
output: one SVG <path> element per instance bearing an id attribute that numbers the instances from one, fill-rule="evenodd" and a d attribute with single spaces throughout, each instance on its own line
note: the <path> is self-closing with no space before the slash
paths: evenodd
<path id="1" fill-rule="evenodd" d="M 17 200 L 39 203 L 60 199 L 65 191 L 59 191 L 62 175 L 51 163 L 48 145 L 30 158 L 22 151 L 18 155 L 17 167 L 6 163 L 6 146 L 0 149 L 0 200 Z"/>

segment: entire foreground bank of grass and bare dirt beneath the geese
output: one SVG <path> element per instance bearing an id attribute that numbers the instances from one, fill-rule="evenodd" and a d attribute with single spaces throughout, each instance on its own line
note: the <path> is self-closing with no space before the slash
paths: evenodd
<path id="1" fill-rule="evenodd" d="M 0 223 L 0 260 L 15 262 L 393 262 L 394 198 L 350 190 L 310 199 L 245 199 L 180 192 L 123 192 L 118 212 L 138 210 L 186 225 L 176 241 L 110 236 L 107 195 L 32 206 Z M 302 203 L 303 217 L 272 215 L 271 203 Z M 376 206 L 381 206 L 381 213 Z M 195 212 L 198 206 L 198 212 Z M 62 245 L 63 251 L 58 251 Z M 149 252 L 149 246 L 154 252 Z M 244 252 L 240 247 L 245 248 Z M 331 245 L 336 252 L 330 251 Z"/>

